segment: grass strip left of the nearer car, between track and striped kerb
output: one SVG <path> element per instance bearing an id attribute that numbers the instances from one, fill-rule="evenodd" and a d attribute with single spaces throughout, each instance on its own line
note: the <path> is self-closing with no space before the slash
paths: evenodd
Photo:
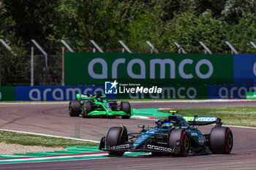
<path id="1" fill-rule="evenodd" d="M 49 136 L 39 136 L 33 134 L 20 134 L 10 131 L 0 131 L 0 142 L 7 144 L 22 144 L 26 146 L 42 147 L 97 147 L 95 142 L 83 142 L 74 139 L 63 139 Z"/>

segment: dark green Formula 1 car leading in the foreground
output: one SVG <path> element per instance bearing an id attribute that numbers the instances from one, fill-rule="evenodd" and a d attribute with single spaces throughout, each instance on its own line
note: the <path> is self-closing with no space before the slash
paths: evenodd
<path id="1" fill-rule="evenodd" d="M 187 121 L 188 120 L 188 121 Z M 170 115 L 166 120 L 156 120 L 154 128 L 139 133 L 127 133 L 124 125 L 112 127 L 107 136 L 102 137 L 99 150 L 109 155 L 121 156 L 124 152 L 151 152 L 152 155 L 208 155 L 228 154 L 233 147 L 230 128 L 222 127 L 218 117 L 181 117 Z M 195 125 L 216 123 L 210 134 L 202 134 Z"/>

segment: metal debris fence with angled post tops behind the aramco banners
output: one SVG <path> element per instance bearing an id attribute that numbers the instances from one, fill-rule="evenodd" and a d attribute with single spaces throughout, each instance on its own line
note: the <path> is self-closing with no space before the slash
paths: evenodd
<path id="1" fill-rule="evenodd" d="M 30 55 L 29 53 L 18 55 L 12 50 L 11 45 L 7 45 L 4 42 L 4 39 L 0 39 L 0 42 L 2 44 L 0 47 L 0 86 L 64 85 L 64 51 L 66 50 L 72 53 L 76 51 L 66 41 L 61 39 L 62 45 L 66 47 L 65 49 L 61 47 L 57 50 L 44 50 L 36 40 L 31 39 L 31 42 L 33 42 L 31 46 L 35 47 L 31 47 Z M 106 52 L 94 40 L 90 40 L 90 42 L 92 45 L 91 52 Z M 132 50 L 123 41 L 119 40 L 118 42 L 120 43 L 120 47 L 123 47 L 120 53 L 132 53 Z M 178 53 L 187 53 L 178 42 L 174 43 L 178 49 Z M 238 54 L 238 51 L 230 42 L 226 41 L 225 43 L 230 48 L 230 53 Z M 146 41 L 146 44 L 150 47 L 148 53 L 159 53 L 151 42 Z M 198 42 L 198 45 L 203 47 L 204 53 L 212 54 L 211 50 L 203 42 Z M 256 49 L 254 42 L 250 42 L 249 45 L 252 45 Z M 36 51 L 35 53 L 34 50 Z M 5 53 L 1 53 L 3 51 Z M 53 52 L 54 55 L 48 54 L 45 51 Z"/>

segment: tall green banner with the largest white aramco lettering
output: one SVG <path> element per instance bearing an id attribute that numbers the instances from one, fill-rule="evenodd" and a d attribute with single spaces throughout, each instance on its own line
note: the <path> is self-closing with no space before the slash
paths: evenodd
<path id="1" fill-rule="evenodd" d="M 233 55 L 65 54 L 65 85 L 104 85 L 107 80 L 141 85 L 230 84 Z"/>

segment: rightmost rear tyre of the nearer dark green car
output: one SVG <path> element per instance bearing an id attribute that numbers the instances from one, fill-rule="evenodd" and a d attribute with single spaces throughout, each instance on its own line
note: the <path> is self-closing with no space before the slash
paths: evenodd
<path id="1" fill-rule="evenodd" d="M 211 129 L 210 150 L 212 153 L 229 154 L 233 147 L 233 133 L 227 127 Z"/>

